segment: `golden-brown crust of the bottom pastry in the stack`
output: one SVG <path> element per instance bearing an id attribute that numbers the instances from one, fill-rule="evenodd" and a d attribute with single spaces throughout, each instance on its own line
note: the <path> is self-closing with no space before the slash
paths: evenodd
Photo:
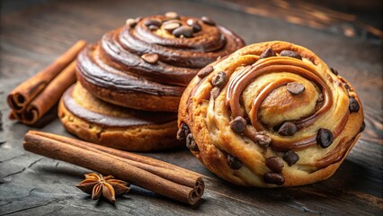
<path id="1" fill-rule="evenodd" d="M 175 120 L 160 121 L 161 123 L 139 121 L 139 119 L 137 120 L 139 116 L 137 117 L 135 111 L 104 103 L 86 92 L 79 83 L 74 91 L 76 92 L 75 97 L 78 97 L 77 101 L 74 98 L 76 103 L 85 108 L 85 111 L 104 114 L 105 118 L 117 117 L 117 121 L 119 116 L 121 121 L 128 120 L 128 126 L 113 126 L 112 121 L 106 122 L 107 125 L 105 125 L 105 122 L 102 123 L 97 119 L 89 121 L 86 116 L 77 116 L 65 105 L 66 93 L 58 105 L 58 117 L 65 128 L 77 137 L 111 148 L 129 151 L 154 151 L 180 146 L 180 142 L 174 138 L 177 130 Z M 151 112 L 147 112 L 147 115 L 151 115 Z M 129 125 L 129 118 L 135 119 L 131 125 Z"/>

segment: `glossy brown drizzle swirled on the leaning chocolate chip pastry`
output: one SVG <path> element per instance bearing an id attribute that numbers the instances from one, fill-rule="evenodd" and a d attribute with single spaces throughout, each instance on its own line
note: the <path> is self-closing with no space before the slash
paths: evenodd
<path id="1" fill-rule="evenodd" d="M 259 59 L 254 65 L 245 67 L 242 71 L 237 73 L 235 77 L 230 78 L 227 87 L 226 104 L 231 110 L 232 117 L 235 118 L 236 116 L 244 115 L 240 107 L 240 95 L 254 78 L 269 73 L 279 72 L 289 72 L 307 78 L 315 83 L 321 89 L 321 94 L 323 94 L 323 105 L 316 112 L 299 120 L 292 121 L 292 123 L 297 126 L 297 130 L 307 128 L 309 125 L 313 124 L 333 105 L 331 90 L 314 67 L 295 58 L 270 57 Z M 258 121 L 258 110 L 263 103 L 263 100 L 271 94 L 274 89 L 286 85 L 289 82 L 294 82 L 294 80 L 289 77 L 283 77 L 278 81 L 272 82 L 263 87 L 263 90 L 254 98 L 252 108 L 248 114 L 255 130 L 266 130 L 261 122 Z M 334 136 L 337 136 L 340 133 L 340 130 L 343 129 L 347 116 L 348 115 L 346 114 L 339 125 L 337 125 L 337 128 L 334 130 Z M 272 140 L 270 145 L 275 149 L 307 148 L 316 145 L 316 136 L 313 135 L 299 140 Z"/>

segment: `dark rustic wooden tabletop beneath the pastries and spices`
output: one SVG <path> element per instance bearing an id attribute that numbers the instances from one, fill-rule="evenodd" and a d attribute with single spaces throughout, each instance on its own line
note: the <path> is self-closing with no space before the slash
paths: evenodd
<path id="1" fill-rule="evenodd" d="M 8 1 L 8 3 L 11 1 Z M 281 20 L 243 14 L 203 1 L 14 1 L 1 13 L 0 31 L 0 214 L 1 215 L 381 215 L 383 214 L 383 113 L 381 42 L 346 38 Z M 291 188 L 244 188 L 212 175 L 184 148 L 146 154 L 208 175 L 203 201 L 191 208 L 132 186 L 115 205 L 97 202 L 75 187 L 84 168 L 25 152 L 31 128 L 9 121 L 5 97 L 14 86 L 46 67 L 76 40 L 94 42 L 129 17 L 208 15 L 247 44 L 287 40 L 316 52 L 357 89 L 367 128 L 343 165 L 323 182 Z M 49 113 L 38 130 L 70 136 Z M 50 117 L 50 118 L 49 118 Z"/>

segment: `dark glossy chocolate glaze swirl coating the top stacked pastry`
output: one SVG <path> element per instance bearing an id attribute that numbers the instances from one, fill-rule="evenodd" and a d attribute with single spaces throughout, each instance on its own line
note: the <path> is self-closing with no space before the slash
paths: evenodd
<path id="1" fill-rule="evenodd" d="M 189 19 L 201 27 L 191 38 L 177 38 L 163 25 L 156 30 L 147 26 L 152 20 L 168 21 L 164 15 L 149 16 L 106 33 L 79 55 L 78 76 L 113 91 L 181 96 L 200 67 L 245 45 L 222 26 L 186 16 L 176 22 L 187 25 Z M 147 53 L 156 54 L 158 61 L 148 63 L 141 58 Z"/>

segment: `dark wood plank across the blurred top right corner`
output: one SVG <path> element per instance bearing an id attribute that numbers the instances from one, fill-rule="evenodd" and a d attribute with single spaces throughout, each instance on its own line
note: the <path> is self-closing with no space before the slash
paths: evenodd
<path id="1" fill-rule="evenodd" d="M 281 19 L 289 23 L 380 42 L 383 39 L 379 1 L 356 0 L 200 0 L 247 14 Z"/>

